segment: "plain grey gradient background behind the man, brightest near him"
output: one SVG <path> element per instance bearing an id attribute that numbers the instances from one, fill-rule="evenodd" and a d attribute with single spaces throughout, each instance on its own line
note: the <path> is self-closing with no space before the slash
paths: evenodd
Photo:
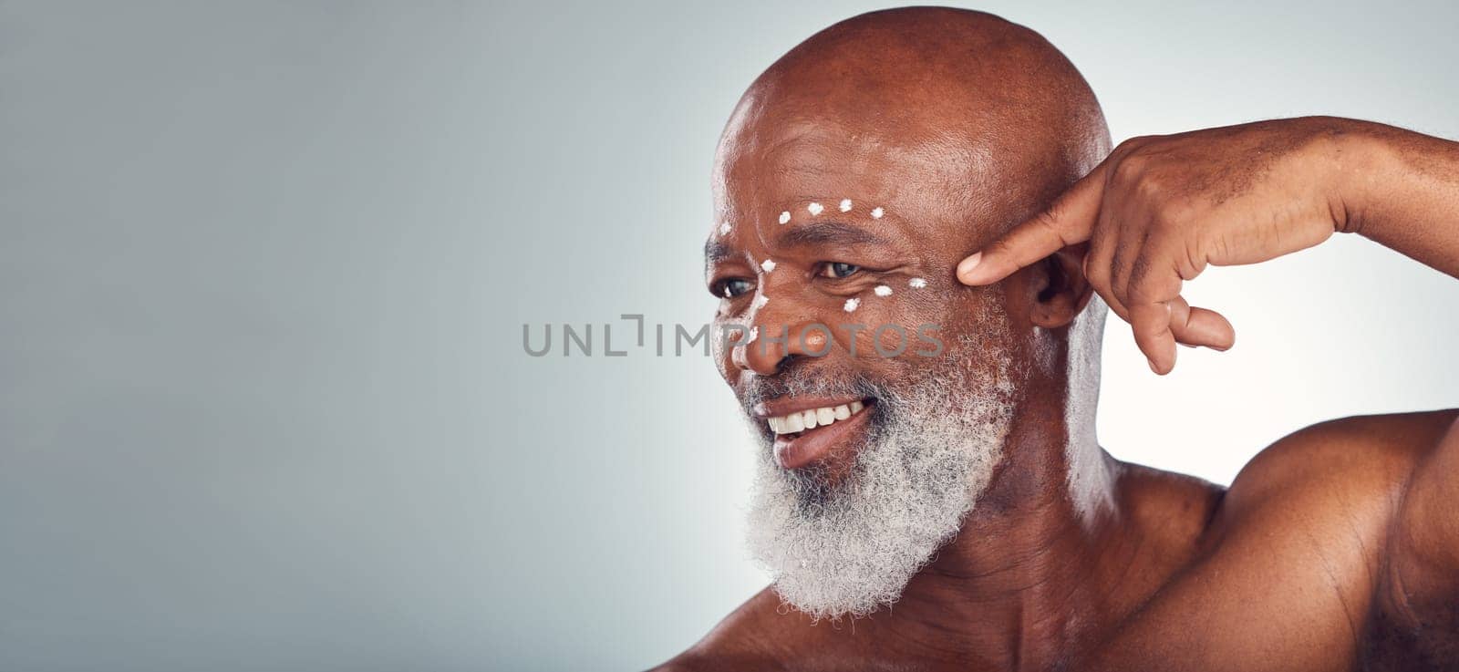
<path id="1" fill-rule="evenodd" d="M 521 325 L 706 321 L 725 117 L 875 7 L 0 1 L 0 672 L 694 641 L 765 583 L 728 392 L 702 356 L 527 357 Z M 1061 47 L 1116 140 L 1315 112 L 1459 137 L 1453 3 L 979 7 Z M 1157 379 L 1112 321 L 1121 458 L 1226 482 L 1304 424 L 1459 404 L 1459 281 L 1376 245 L 1189 296 L 1237 347 Z"/>

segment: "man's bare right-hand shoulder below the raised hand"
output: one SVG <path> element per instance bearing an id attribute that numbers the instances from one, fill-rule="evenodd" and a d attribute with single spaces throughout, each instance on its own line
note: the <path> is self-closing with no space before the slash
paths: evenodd
<path id="1" fill-rule="evenodd" d="M 1263 449 L 1224 493 L 1161 474 L 1161 501 L 1182 506 L 1150 510 L 1186 512 L 1173 516 L 1180 526 L 1170 539 L 1199 531 L 1172 545 L 1169 579 L 1125 620 L 1094 669 L 1205 669 L 1211 652 L 1223 652 L 1227 669 L 1373 660 L 1366 649 L 1389 535 L 1415 472 L 1456 417 L 1459 410 L 1317 423 Z"/>

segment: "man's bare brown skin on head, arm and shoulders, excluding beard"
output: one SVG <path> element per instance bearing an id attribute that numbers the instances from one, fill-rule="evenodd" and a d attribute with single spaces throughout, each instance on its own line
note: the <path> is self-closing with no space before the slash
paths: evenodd
<path id="1" fill-rule="evenodd" d="M 767 587 L 659 669 L 1459 669 L 1459 411 L 1303 429 L 1230 488 L 1119 462 L 1069 413 L 1094 402 L 1097 340 L 1071 338 L 1094 294 L 1166 373 L 1176 343 L 1234 341 L 1179 296 L 1210 264 L 1355 233 L 1459 276 L 1455 143 L 1307 118 L 1110 152 L 1083 79 L 1042 38 L 913 9 L 833 26 L 762 76 L 721 141 L 715 192 L 735 223 L 711 239 L 708 280 L 732 294 L 718 321 L 791 332 L 724 351 L 738 394 L 797 367 L 932 366 L 877 357 L 865 334 L 795 337 L 846 322 L 845 299 L 875 284 L 899 293 L 865 299 L 856 322 L 975 334 L 947 356 L 975 376 L 1018 372 L 1018 391 L 989 488 L 894 608 L 816 624 Z M 856 207 L 837 213 L 840 198 Z M 929 287 L 902 292 L 909 277 Z M 980 354 L 994 340 L 1014 366 Z M 859 436 L 810 461 L 829 484 Z"/>

